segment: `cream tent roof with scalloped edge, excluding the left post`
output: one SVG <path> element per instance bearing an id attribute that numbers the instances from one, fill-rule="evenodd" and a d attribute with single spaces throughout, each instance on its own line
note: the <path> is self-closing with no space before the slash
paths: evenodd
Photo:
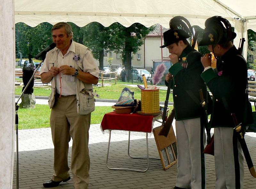
<path id="1" fill-rule="evenodd" d="M 156 23 L 169 28 L 169 20 L 177 15 L 186 17 L 191 25 L 204 28 L 204 21 L 214 15 L 228 19 L 238 34 L 234 43 L 245 37 L 247 29 L 256 31 L 255 0 L 15 0 L 15 23 L 35 27 L 42 22 L 55 24 L 73 22 L 83 27 L 96 21 L 108 27 L 119 22 L 125 27 L 139 22 L 146 27 Z M 247 48 L 244 48 L 247 54 Z M 246 58 L 246 56 L 245 56 Z"/>

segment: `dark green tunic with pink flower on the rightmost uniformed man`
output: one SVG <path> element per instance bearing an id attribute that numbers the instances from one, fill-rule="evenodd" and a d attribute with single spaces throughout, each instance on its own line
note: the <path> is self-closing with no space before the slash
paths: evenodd
<path id="1" fill-rule="evenodd" d="M 243 125 L 252 121 L 252 106 L 245 93 L 247 66 L 244 58 L 237 54 L 233 46 L 217 60 L 216 70 L 207 69 L 201 74 L 213 95 L 212 128 L 234 127 L 231 113 L 235 113 Z"/>

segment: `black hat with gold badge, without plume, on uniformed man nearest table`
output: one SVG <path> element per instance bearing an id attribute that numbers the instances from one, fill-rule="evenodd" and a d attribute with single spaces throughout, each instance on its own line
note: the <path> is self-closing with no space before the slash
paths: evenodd
<path id="1" fill-rule="evenodd" d="M 172 43 L 176 43 L 180 40 L 184 40 L 190 37 L 182 29 L 169 29 L 166 32 L 164 32 L 163 35 L 164 35 L 164 45 L 160 46 L 160 48 L 167 47 Z"/>

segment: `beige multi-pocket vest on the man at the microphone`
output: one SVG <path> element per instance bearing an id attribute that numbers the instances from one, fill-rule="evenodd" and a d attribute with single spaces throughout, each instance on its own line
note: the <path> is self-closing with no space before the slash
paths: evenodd
<path id="1" fill-rule="evenodd" d="M 75 64 L 75 68 L 78 70 L 83 71 L 83 59 L 84 59 L 84 52 L 86 51 L 87 47 L 82 44 L 75 43 L 75 54 L 80 56 L 80 59 L 77 60 L 78 64 Z M 56 63 L 58 60 L 58 49 L 55 47 L 51 51 L 48 52 L 49 60 L 51 62 Z M 55 94 L 56 94 L 56 76 L 52 78 L 52 92 L 48 100 L 48 104 L 50 108 L 53 107 L 55 102 Z M 92 95 L 93 88 L 92 84 L 84 83 L 81 80 L 76 78 L 76 106 L 77 106 L 77 113 L 79 115 L 89 114 L 94 111 L 95 109 L 95 102 L 94 96 Z"/>

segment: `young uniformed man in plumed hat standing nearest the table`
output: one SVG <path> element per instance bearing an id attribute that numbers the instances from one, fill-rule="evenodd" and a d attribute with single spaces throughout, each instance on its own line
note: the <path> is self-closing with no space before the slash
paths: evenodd
<path id="1" fill-rule="evenodd" d="M 180 17 L 179 17 L 180 18 Z M 178 175 L 175 189 L 205 189 L 204 150 L 205 132 L 201 124 L 202 107 L 199 90 L 205 97 L 206 86 L 200 77 L 204 67 L 201 54 L 192 49 L 187 38 L 190 35 L 178 29 L 176 17 L 170 21 L 170 30 L 164 32 L 172 67 L 165 76 L 165 84 L 171 84 L 175 110 L 175 126 L 178 152 Z M 178 20 L 179 21 L 179 20 Z M 190 24 L 189 24 L 190 25 Z"/>

